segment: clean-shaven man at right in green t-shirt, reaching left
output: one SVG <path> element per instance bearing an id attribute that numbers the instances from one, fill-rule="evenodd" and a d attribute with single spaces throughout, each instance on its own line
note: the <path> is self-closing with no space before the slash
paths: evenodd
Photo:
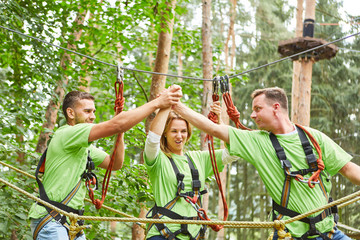
<path id="1" fill-rule="evenodd" d="M 327 204 L 327 193 L 331 189 L 330 182 L 323 179 L 325 181 L 319 181 L 319 184 L 316 183 L 314 188 L 310 188 L 307 183 L 294 181 L 294 177 L 289 180 L 291 188 L 289 186 L 286 204 L 282 204 L 283 198 L 286 198 L 283 196 L 285 186 L 284 165 L 282 166 L 283 162 L 277 156 L 270 136 L 273 135 L 283 148 L 283 153 L 291 165 L 291 171 L 299 171 L 309 168 L 306 161 L 308 155 L 305 155 L 305 149 L 299 138 L 302 130 L 295 127 L 289 119 L 288 100 L 283 89 L 258 89 L 253 92 L 252 98 L 253 112 L 251 118 L 260 129 L 258 131 L 239 130 L 227 125 L 214 124 L 182 103 L 177 104 L 174 110 L 195 127 L 226 142 L 231 155 L 239 156 L 253 164 L 273 198 L 274 205 L 286 206 L 285 208 L 292 213 L 301 214 Z M 325 165 L 323 172 L 331 176 L 340 172 L 352 183 L 360 185 L 360 167 L 350 161 L 352 157 L 325 134 L 308 127 L 305 130 L 313 135 L 320 146 Z M 311 147 L 313 152 L 317 153 L 314 146 L 311 145 Z M 318 157 L 316 156 L 316 158 Z M 304 175 L 304 177 L 310 176 L 311 173 Z M 279 211 L 274 211 L 274 217 L 278 219 L 289 218 L 287 214 Z M 316 217 L 316 215 L 310 217 Z M 310 225 L 312 226 L 310 227 Z M 293 239 L 350 239 L 334 226 L 334 218 L 330 212 L 324 213 L 324 217 L 318 219 L 314 224 L 296 221 L 286 225 L 286 228 Z M 276 233 L 273 239 L 278 239 Z"/>

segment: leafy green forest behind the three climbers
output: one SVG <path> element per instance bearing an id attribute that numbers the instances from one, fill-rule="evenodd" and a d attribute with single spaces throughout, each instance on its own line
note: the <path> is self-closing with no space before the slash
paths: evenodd
<path id="1" fill-rule="evenodd" d="M 203 1 L 204 2 L 204 1 Z M 106 1 L 106 0 L 8 0 L 0 1 L 0 25 L 38 37 L 126 68 L 152 71 L 164 22 L 173 20 L 169 52 L 169 73 L 203 77 L 202 12 L 200 0 Z M 285 0 L 213 0 L 211 3 L 211 60 L 213 76 L 234 75 L 278 60 L 278 42 L 294 37 L 295 5 Z M 293 1 L 292 1 L 293 2 Z M 173 10 L 169 7 L 172 4 Z M 357 33 L 359 15 L 343 11 L 340 0 L 316 1 L 316 38 L 333 41 Z M 232 26 L 232 27 L 231 27 Z M 229 29 L 233 30 L 231 32 Z M 229 34 L 230 33 L 230 34 Z M 41 152 L 53 131 L 65 123 L 58 111 L 64 93 L 84 89 L 96 98 L 96 121 L 113 114 L 116 68 L 66 52 L 34 39 L 0 29 L 0 160 L 34 174 Z M 337 42 L 339 52 L 331 60 L 314 64 L 311 89 L 310 126 L 323 131 L 360 164 L 359 76 L 360 38 Z M 279 86 L 291 97 L 292 62 L 272 66 L 232 78 L 232 99 L 241 121 L 255 128 L 250 119 L 250 93 L 261 87 Z M 124 110 L 151 99 L 152 76 L 125 70 Z M 179 84 L 183 102 L 201 112 L 211 100 L 203 81 L 166 78 L 166 86 Z M 211 93 L 210 93 L 211 94 Z M 205 97 L 204 97 L 205 96 Z M 204 100 L 205 99 L 205 100 Z M 290 98 L 291 101 L 291 98 Z M 153 205 L 141 152 L 146 137 L 145 121 L 125 134 L 126 160 L 111 179 L 105 204 L 138 216 L 139 202 Z M 200 148 L 200 132 L 195 133 L 188 150 Z M 113 139 L 96 142 L 110 152 Z M 216 141 L 216 146 L 220 142 Z M 226 197 L 228 220 L 267 221 L 271 199 L 256 170 L 245 161 L 228 166 Z M 98 170 L 99 179 L 104 171 Z M 37 196 L 37 185 L 13 170 L 0 165 L 0 177 Z M 332 196 L 339 199 L 359 190 L 341 175 L 331 178 Z M 217 219 L 218 195 L 215 181 L 210 183 L 209 216 Z M 97 195 L 99 198 L 99 195 Z M 0 185 L 0 239 L 32 239 L 27 212 L 33 200 Z M 360 226 L 359 203 L 340 210 L 340 222 Z M 114 216 L 108 210 L 95 210 L 86 204 L 86 215 Z M 117 215 L 116 215 L 117 216 Z M 221 219 L 221 217 L 220 217 Z M 89 239 L 136 239 L 130 223 L 91 222 Z M 216 233 L 208 231 L 208 239 Z M 266 239 L 264 229 L 225 230 L 224 239 Z"/>

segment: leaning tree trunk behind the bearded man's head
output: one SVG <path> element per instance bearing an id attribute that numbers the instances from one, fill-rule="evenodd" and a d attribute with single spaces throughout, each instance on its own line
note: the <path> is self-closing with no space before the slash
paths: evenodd
<path id="1" fill-rule="evenodd" d="M 86 12 L 79 13 L 74 22 L 77 25 L 83 24 L 85 16 L 86 16 Z M 82 34 L 82 29 L 78 30 L 77 32 L 74 32 L 73 33 L 73 35 L 75 36 L 74 41 L 78 41 L 81 37 L 81 34 Z M 68 49 L 76 49 L 76 47 L 73 44 L 71 44 L 70 42 L 67 43 L 67 48 Z M 71 62 L 71 58 L 70 58 L 69 53 L 64 52 L 64 55 L 62 56 L 61 61 L 60 61 L 60 66 L 62 67 L 62 69 L 64 69 L 64 70 L 66 69 L 67 62 Z M 60 104 L 64 98 L 64 89 L 62 86 L 66 85 L 67 83 L 68 83 L 67 76 L 65 76 L 64 80 L 59 80 L 57 82 L 57 85 L 56 85 L 55 91 L 54 91 L 55 96 L 50 100 L 49 105 L 46 108 L 45 122 L 42 126 L 43 130 L 40 133 L 39 140 L 36 145 L 36 152 L 42 153 L 45 151 L 45 149 L 47 147 L 47 142 L 49 141 L 50 131 L 53 130 L 55 127 L 57 113 L 59 111 Z M 50 131 L 47 131 L 47 130 L 50 130 Z"/>

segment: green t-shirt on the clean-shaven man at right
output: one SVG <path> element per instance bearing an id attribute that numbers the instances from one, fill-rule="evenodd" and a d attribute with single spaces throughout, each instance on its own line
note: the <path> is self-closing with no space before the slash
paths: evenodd
<path id="1" fill-rule="evenodd" d="M 325 164 L 324 172 L 333 176 L 351 160 L 352 157 L 325 134 L 315 129 L 306 129 L 320 145 L 322 159 Z M 284 148 L 287 159 L 291 162 L 291 171 L 309 168 L 297 133 L 280 134 L 276 135 L 276 137 Z M 255 166 L 270 196 L 274 201 L 280 203 L 285 175 L 272 146 L 269 133 L 266 131 L 245 131 L 229 127 L 229 144 L 227 148 L 231 155 L 239 156 Z M 314 147 L 313 152 L 317 156 Z M 305 175 L 307 178 L 310 176 L 311 174 Z M 331 183 L 324 178 L 323 180 L 325 188 L 329 192 Z M 319 184 L 316 184 L 316 187 L 311 189 L 307 183 L 301 183 L 294 179 L 291 181 L 289 209 L 298 213 L 306 213 L 325 204 L 327 204 L 327 201 Z M 283 219 L 288 218 L 284 216 Z M 328 232 L 333 226 L 334 220 L 332 216 L 316 224 L 320 232 Z M 301 221 L 287 224 L 286 227 L 293 237 L 300 237 L 309 229 L 309 225 Z"/>

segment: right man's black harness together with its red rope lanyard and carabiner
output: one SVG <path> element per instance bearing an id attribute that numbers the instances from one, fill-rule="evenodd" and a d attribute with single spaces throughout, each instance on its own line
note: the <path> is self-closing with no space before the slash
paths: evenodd
<path id="1" fill-rule="evenodd" d="M 226 104 L 227 113 L 228 113 L 230 119 L 234 121 L 237 128 L 251 131 L 252 129 L 245 127 L 240 122 L 240 119 L 239 119 L 240 113 L 234 106 L 233 101 L 230 96 L 230 93 L 229 93 L 229 78 L 228 78 L 228 76 L 225 75 L 225 77 L 220 77 L 220 84 L 221 84 L 221 91 L 223 93 L 223 99 Z M 288 204 L 289 197 L 290 197 L 291 179 L 295 179 L 299 182 L 307 183 L 310 188 L 314 188 L 315 185 L 318 184 L 320 186 L 321 191 L 322 191 L 323 195 L 325 196 L 326 200 L 328 202 L 332 201 L 332 199 L 328 197 L 327 191 L 324 187 L 323 181 L 320 176 L 321 172 L 325 168 L 324 162 L 322 161 L 322 153 L 321 153 L 320 146 L 319 146 L 318 142 L 316 141 L 316 139 L 304 127 L 302 127 L 298 124 L 295 124 L 295 126 L 296 126 L 297 132 L 299 134 L 301 145 L 305 152 L 307 163 L 309 165 L 309 168 L 307 168 L 307 169 L 290 171 L 291 163 L 289 160 L 286 159 L 284 149 L 281 147 L 279 141 L 277 140 L 276 136 L 273 133 L 270 133 L 270 135 L 269 135 L 272 145 L 276 151 L 276 155 L 280 160 L 281 167 L 284 169 L 284 173 L 285 173 L 285 182 L 284 182 L 284 186 L 283 186 L 283 190 L 282 190 L 281 204 L 278 204 L 273 200 L 273 220 L 276 220 L 276 219 L 279 220 L 282 218 L 283 215 L 290 216 L 290 217 L 295 217 L 295 216 L 300 215 L 300 213 L 297 213 L 297 212 L 292 211 L 287 208 L 287 204 Z M 319 156 L 318 159 L 316 159 L 316 157 L 313 153 L 313 150 L 312 150 L 312 146 L 310 145 L 310 142 L 309 142 L 308 138 L 306 137 L 306 135 L 309 137 L 311 143 L 313 144 L 314 148 L 316 149 L 318 156 Z M 308 179 L 305 179 L 304 175 L 306 175 L 308 173 L 312 173 L 312 175 Z M 275 211 L 277 211 L 279 213 L 277 216 L 275 215 Z M 301 238 L 293 238 L 293 239 L 295 239 L 295 240 L 296 239 L 299 239 L 299 240 L 304 239 L 305 240 L 305 239 L 308 239 L 307 238 L 308 236 L 319 235 L 324 240 L 331 240 L 331 236 L 334 232 L 334 229 L 327 234 L 321 233 L 316 229 L 315 224 L 317 222 L 322 221 L 327 216 L 330 216 L 332 214 L 334 214 L 335 222 L 337 222 L 338 215 L 337 215 L 337 206 L 336 205 L 334 207 L 324 210 L 322 213 L 320 213 L 316 217 L 307 217 L 307 218 L 301 219 L 300 221 L 309 224 L 310 229 L 303 236 L 301 236 Z"/>

